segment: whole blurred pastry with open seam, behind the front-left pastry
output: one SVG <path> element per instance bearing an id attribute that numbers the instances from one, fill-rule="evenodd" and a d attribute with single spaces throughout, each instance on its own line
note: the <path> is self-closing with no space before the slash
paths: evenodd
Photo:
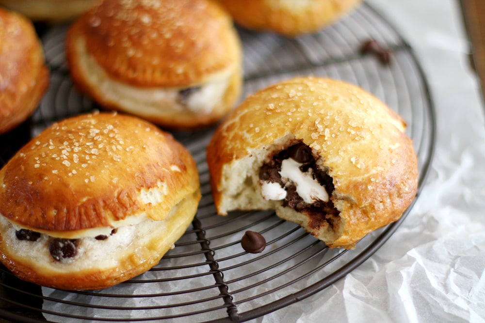
<path id="1" fill-rule="evenodd" d="M 105 0 L 72 26 L 67 59 L 103 107 L 169 128 L 215 123 L 241 92 L 241 44 L 208 0 Z"/>

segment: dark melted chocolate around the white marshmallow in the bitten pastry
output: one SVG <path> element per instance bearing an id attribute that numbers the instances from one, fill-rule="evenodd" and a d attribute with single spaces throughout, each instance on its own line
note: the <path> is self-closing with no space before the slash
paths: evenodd
<path id="1" fill-rule="evenodd" d="M 309 224 L 311 228 L 318 229 L 323 222 L 327 222 L 333 228 L 334 218 L 339 215 L 339 211 L 331 200 L 328 200 L 328 202 L 316 200 L 312 204 L 308 204 L 298 195 L 296 186 L 293 183 L 287 183 L 286 185 L 283 183 L 279 172 L 281 171 L 283 160 L 288 158 L 303 164 L 300 166 L 302 172 L 312 169 L 313 179 L 325 187 L 328 196 L 332 195 L 335 189 L 332 178 L 326 172 L 317 168 L 310 147 L 302 142 L 274 154 L 272 159 L 268 163 L 263 164 L 259 170 L 259 179 L 264 182 L 279 183 L 282 187 L 285 187 L 287 194 L 285 200 L 283 200 L 283 206 L 291 207 L 295 211 L 307 215 L 311 220 Z"/>

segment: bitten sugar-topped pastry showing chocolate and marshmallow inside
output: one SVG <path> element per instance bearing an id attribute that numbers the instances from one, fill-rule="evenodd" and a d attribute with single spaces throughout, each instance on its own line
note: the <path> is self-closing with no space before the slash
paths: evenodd
<path id="1" fill-rule="evenodd" d="M 330 247 L 352 248 L 416 196 L 405 123 L 362 89 L 294 78 L 249 96 L 207 148 L 217 212 L 274 209 Z"/>

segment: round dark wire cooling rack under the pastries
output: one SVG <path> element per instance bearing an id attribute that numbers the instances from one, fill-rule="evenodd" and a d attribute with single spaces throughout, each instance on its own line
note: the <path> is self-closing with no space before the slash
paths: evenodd
<path id="1" fill-rule="evenodd" d="M 73 87 L 64 56 L 66 30 L 59 26 L 42 33 L 51 69 L 49 92 L 30 120 L 0 137 L 0 165 L 50 123 L 98 108 Z M 385 18 L 364 3 L 336 24 L 296 39 L 239 32 L 244 50 L 242 97 L 297 75 L 361 86 L 407 122 L 418 154 L 421 190 L 434 150 L 434 107 L 412 48 Z M 390 51 L 390 64 L 359 52 L 369 39 Z M 366 236 L 355 250 L 329 249 L 271 211 L 218 216 L 205 162 L 212 131 L 175 134 L 197 161 L 203 197 L 192 226 L 157 266 L 112 288 L 84 292 L 41 288 L 1 266 L 0 316 L 18 322 L 247 321 L 324 292 L 382 246 L 409 213 Z M 242 249 L 246 230 L 266 238 L 262 253 Z"/>

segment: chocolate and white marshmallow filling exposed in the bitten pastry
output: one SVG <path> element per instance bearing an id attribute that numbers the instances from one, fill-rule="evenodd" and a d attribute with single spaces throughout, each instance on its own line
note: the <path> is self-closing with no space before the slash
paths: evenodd
<path id="1" fill-rule="evenodd" d="M 334 229 L 339 221 L 339 211 L 329 198 L 333 180 L 318 169 L 311 149 L 302 142 L 270 156 L 259 170 L 259 184 L 265 200 L 281 200 L 284 207 L 306 215 L 312 229 Z"/>

